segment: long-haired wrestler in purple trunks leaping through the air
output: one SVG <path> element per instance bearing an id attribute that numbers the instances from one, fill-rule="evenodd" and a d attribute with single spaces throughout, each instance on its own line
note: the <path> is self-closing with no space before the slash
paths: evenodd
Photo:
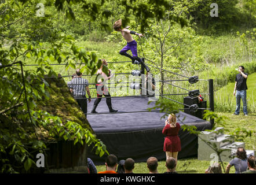
<path id="1" fill-rule="evenodd" d="M 127 45 L 125 47 L 123 47 L 122 50 L 120 50 L 119 54 L 122 56 L 129 57 L 131 59 L 131 61 L 133 62 L 133 64 L 136 64 L 136 61 L 138 61 L 140 64 L 142 64 L 144 66 L 146 71 L 149 72 L 150 71 L 149 67 L 144 64 L 144 62 L 141 60 L 141 58 L 138 57 L 137 42 L 131 36 L 131 34 L 134 34 L 134 35 L 138 35 L 141 38 L 141 36 L 143 36 L 143 35 L 138 34 L 135 31 L 130 31 L 128 29 L 129 27 L 122 28 L 122 20 L 120 20 L 120 19 L 118 21 L 115 21 L 113 28 L 115 29 L 115 31 L 120 31 L 123 38 L 125 38 L 125 40 L 127 42 Z M 130 54 L 126 53 L 129 50 L 131 50 L 133 57 L 130 56 Z"/>

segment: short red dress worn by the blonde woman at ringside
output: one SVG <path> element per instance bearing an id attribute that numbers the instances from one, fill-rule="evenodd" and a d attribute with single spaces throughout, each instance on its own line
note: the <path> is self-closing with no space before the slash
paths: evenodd
<path id="1" fill-rule="evenodd" d="M 181 151 L 181 140 L 178 136 L 180 128 L 181 125 L 179 123 L 176 123 L 176 127 L 174 128 L 171 128 L 170 124 L 164 126 L 162 133 L 167 136 L 164 139 L 163 151 Z"/>

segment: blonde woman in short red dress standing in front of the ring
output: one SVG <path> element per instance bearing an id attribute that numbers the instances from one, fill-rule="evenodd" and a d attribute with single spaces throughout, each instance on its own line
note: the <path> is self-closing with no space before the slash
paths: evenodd
<path id="1" fill-rule="evenodd" d="M 173 157 L 177 163 L 178 152 L 181 151 L 181 140 L 178 136 L 178 131 L 181 126 L 176 122 L 175 114 L 170 114 L 168 120 L 165 121 L 165 126 L 162 133 L 167 135 L 164 139 L 163 151 L 166 152 L 166 160 Z"/>

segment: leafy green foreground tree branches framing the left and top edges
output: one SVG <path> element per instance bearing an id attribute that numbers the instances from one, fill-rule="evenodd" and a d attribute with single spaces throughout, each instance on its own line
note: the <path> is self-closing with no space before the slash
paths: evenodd
<path id="1" fill-rule="evenodd" d="M 80 3 L 83 13 L 90 21 L 98 18 L 101 27 L 110 29 L 104 21 L 108 20 L 112 12 L 101 9 L 107 2 L 56 0 L 54 6 L 58 11 L 64 11 L 65 18 L 75 20 L 73 8 Z M 45 143 L 38 138 L 36 132 L 36 129 L 40 128 L 49 131 L 53 138 L 74 139 L 74 144 L 79 142 L 83 145 L 85 139 L 87 145 L 93 143 L 97 149 L 96 153 L 100 156 L 107 152 L 105 145 L 90 129 L 83 129 L 79 124 L 68 120 L 63 123 L 59 117 L 36 109 L 36 100 L 47 96 L 49 98 L 50 89 L 43 76 L 57 76 L 51 63 L 66 63 L 68 69 L 75 68 L 74 61 L 79 62 L 85 64 L 82 71 L 92 75 L 101 65 L 96 54 L 76 46 L 72 36 L 56 28 L 59 23 L 54 21 L 56 15 L 46 13 L 45 17 L 35 16 L 37 3 L 39 1 L 36 0 L 6 0 L 0 3 L 1 172 L 19 172 L 20 165 L 24 166 L 26 171 L 30 169 L 34 161 L 28 148 L 42 152 L 46 149 Z M 138 23 L 142 25 L 141 31 L 144 31 L 152 13 L 154 17 L 162 18 L 167 2 L 118 1 L 119 4 L 126 8 L 123 23 L 126 24 L 131 15 L 139 17 Z M 46 1 L 46 6 L 52 6 L 52 2 Z M 147 11 L 149 6 L 154 7 L 151 12 Z M 42 40 L 47 41 L 48 45 L 42 43 Z M 24 64 L 31 60 L 39 65 L 35 71 L 24 69 Z"/>

